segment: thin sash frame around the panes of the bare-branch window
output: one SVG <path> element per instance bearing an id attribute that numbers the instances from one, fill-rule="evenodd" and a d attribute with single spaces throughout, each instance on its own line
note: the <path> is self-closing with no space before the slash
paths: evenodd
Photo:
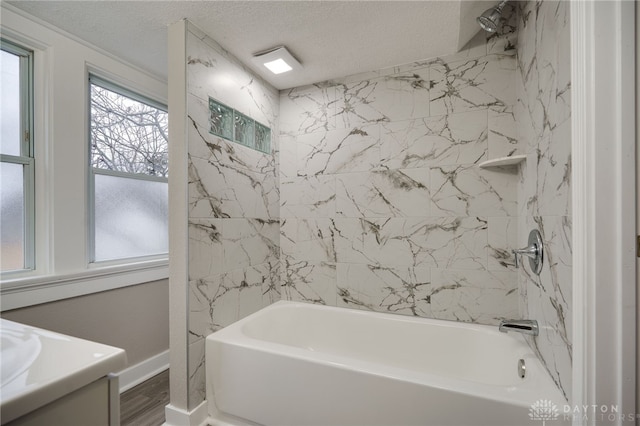
<path id="1" fill-rule="evenodd" d="M 109 79 L 100 77 L 97 74 L 94 73 L 89 73 L 89 78 L 88 78 L 88 88 L 87 88 L 87 93 L 89 95 L 89 100 L 88 100 L 88 105 L 89 105 L 89 110 L 88 110 L 88 117 L 89 120 L 91 119 L 91 85 L 94 84 L 98 87 L 101 87 L 103 89 L 109 90 L 111 92 L 117 93 L 118 95 L 121 96 L 125 96 L 129 99 L 132 99 L 134 101 L 138 101 L 141 102 L 143 104 L 147 104 L 151 107 L 157 108 L 159 110 L 162 110 L 164 112 L 168 112 L 168 108 L 166 104 L 163 104 L 155 99 L 149 98 L 147 96 L 141 95 L 139 93 L 137 93 L 136 91 L 127 88 L 127 87 L 123 87 L 120 86 L 116 83 L 113 83 L 112 81 L 110 81 Z M 90 121 L 89 121 L 90 122 Z M 107 170 L 107 169 L 100 169 L 100 168 L 96 168 L 96 167 L 92 167 L 91 166 L 91 158 L 92 158 L 92 153 L 91 153 L 91 125 L 88 125 L 88 129 L 89 129 L 89 134 L 87 136 L 87 149 L 88 149 L 88 161 L 89 161 L 89 192 L 88 192 L 88 196 L 87 196 L 87 210 L 89 212 L 89 226 L 88 226 L 88 230 L 87 230 L 87 238 L 88 238 L 88 242 L 87 242 L 87 247 L 88 247 L 88 263 L 90 265 L 119 265 L 122 263 L 129 263 L 129 262 L 138 262 L 138 261 L 145 261 L 145 260 L 161 260 L 161 259 L 167 259 L 169 256 L 169 252 L 167 250 L 166 253 L 162 253 L 162 254 L 155 254 L 155 255 L 148 255 L 148 256 L 138 256 L 138 257 L 128 257 L 128 258 L 121 258 L 121 259 L 114 259 L 114 260 L 96 260 L 95 257 L 95 247 L 96 247 L 96 240 L 95 240 L 95 177 L 96 175 L 103 175 L 103 176 L 114 176 L 114 177 L 121 177 L 121 178 L 125 178 L 125 179 L 137 179 L 137 180 L 146 180 L 146 181 L 150 181 L 150 182 L 164 182 L 167 184 L 167 191 L 168 191 L 168 184 L 169 184 L 169 179 L 165 178 L 165 177 L 159 177 L 159 176 L 151 176 L 151 175 L 146 175 L 146 174 L 142 174 L 142 173 L 126 173 L 126 172 L 119 172 L 119 171 L 114 171 L 114 170 Z M 168 234 L 169 234 L 169 229 L 167 229 L 167 238 L 168 238 Z"/>

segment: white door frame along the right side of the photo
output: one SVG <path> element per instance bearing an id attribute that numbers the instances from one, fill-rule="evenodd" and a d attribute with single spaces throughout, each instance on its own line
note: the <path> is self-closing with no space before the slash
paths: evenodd
<path id="1" fill-rule="evenodd" d="M 636 413 L 635 4 L 571 2 L 572 405 Z M 588 414 L 588 413 L 585 413 Z M 585 422 L 595 424 L 595 416 Z M 622 416 L 611 424 L 626 424 Z"/>

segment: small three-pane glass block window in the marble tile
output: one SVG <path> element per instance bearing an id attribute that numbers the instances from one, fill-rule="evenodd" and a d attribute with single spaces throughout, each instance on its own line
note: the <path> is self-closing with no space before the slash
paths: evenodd
<path id="1" fill-rule="evenodd" d="M 256 151 L 271 153 L 271 129 L 211 97 L 209 133 Z"/>

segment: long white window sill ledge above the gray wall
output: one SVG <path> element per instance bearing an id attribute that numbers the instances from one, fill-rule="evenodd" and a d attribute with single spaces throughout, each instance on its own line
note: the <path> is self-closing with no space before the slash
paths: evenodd
<path id="1" fill-rule="evenodd" d="M 169 261 L 163 259 L 129 265 L 92 267 L 77 274 L 3 280 L 0 288 L 0 312 L 168 277 Z"/>

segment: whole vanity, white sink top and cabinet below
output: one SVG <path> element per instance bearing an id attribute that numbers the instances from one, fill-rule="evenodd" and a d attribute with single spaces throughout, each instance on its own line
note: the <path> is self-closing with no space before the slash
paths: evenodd
<path id="1" fill-rule="evenodd" d="M 124 350 L 0 320 L 3 426 L 119 426 Z"/>

